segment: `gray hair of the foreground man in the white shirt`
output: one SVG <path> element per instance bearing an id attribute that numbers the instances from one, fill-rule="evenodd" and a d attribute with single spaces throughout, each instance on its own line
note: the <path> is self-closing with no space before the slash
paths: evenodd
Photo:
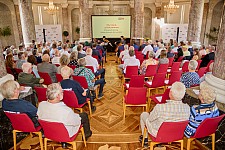
<path id="1" fill-rule="evenodd" d="M 59 83 L 52 83 L 48 86 L 46 91 L 46 97 L 48 100 L 54 100 L 60 94 L 60 84 Z"/>

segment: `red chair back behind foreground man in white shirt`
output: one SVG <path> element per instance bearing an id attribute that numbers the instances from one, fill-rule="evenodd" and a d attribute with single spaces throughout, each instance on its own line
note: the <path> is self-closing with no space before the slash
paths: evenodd
<path id="1" fill-rule="evenodd" d="M 69 133 L 63 123 L 48 122 L 48 121 L 44 121 L 44 120 L 40 120 L 40 119 L 38 121 L 44 130 L 45 137 L 48 139 L 57 141 L 57 142 L 71 142 L 75 139 L 75 137 L 79 133 L 78 132 L 76 134 L 76 136 L 71 139 L 69 137 Z"/>

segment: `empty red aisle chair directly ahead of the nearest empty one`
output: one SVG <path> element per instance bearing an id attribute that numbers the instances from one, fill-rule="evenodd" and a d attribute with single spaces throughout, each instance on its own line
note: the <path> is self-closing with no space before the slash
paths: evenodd
<path id="1" fill-rule="evenodd" d="M 131 76 L 130 82 L 124 83 L 124 86 L 123 86 L 124 89 L 126 90 L 126 93 L 127 93 L 127 90 L 130 87 L 144 87 L 144 80 L 145 80 L 144 75 L 133 75 L 133 76 Z"/>

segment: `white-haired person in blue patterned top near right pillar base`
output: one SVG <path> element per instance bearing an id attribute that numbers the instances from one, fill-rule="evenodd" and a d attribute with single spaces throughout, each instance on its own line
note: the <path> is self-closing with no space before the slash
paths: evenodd
<path id="1" fill-rule="evenodd" d="M 191 60 L 188 64 L 189 72 L 186 72 L 181 76 L 180 81 L 184 83 L 186 88 L 200 84 L 200 77 L 195 72 L 197 67 L 198 62 L 196 60 Z"/>

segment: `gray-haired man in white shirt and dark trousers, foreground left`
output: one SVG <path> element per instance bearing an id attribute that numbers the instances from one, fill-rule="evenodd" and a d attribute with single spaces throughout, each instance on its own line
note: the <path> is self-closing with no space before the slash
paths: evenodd
<path id="1" fill-rule="evenodd" d="M 70 137 L 78 132 L 81 124 L 84 127 L 85 137 L 92 135 L 87 113 L 76 114 L 64 104 L 63 91 L 58 83 L 48 86 L 46 96 L 48 100 L 42 101 L 38 106 L 38 119 L 63 123 Z"/>

